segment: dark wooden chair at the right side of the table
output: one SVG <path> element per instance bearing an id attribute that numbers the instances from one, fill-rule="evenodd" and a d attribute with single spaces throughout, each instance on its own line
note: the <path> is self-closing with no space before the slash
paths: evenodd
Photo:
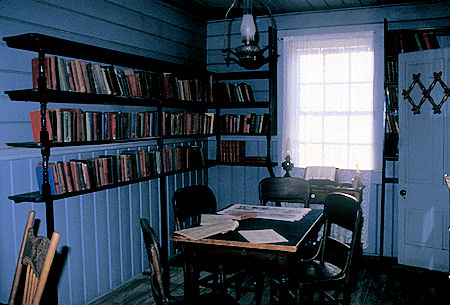
<path id="1" fill-rule="evenodd" d="M 351 195 L 332 193 L 325 200 L 324 217 L 320 250 L 313 258 L 299 261 L 292 268 L 289 286 L 296 296 L 296 304 L 304 304 L 302 297 L 315 291 L 334 304 L 350 304 L 355 272 L 352 267 L 361 250 L 361 207 Z M 332 224 L 352 232 L 349 243 L 331 237 Z"/>

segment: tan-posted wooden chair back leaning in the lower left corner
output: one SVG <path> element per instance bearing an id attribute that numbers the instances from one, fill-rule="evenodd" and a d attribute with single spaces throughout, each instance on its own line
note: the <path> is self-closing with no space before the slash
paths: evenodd
<path id="1" fill-rule="evenodd" d="M 17 299 L 21 299 L 23 305 L 39 304 L 59 242 L 60 234 L 57 232 L 53 232 L 51 240 L 34 235 L 34 216 L 35 212 L 30 211 L 17 259 L 9 305 L 15 304 Z"/>

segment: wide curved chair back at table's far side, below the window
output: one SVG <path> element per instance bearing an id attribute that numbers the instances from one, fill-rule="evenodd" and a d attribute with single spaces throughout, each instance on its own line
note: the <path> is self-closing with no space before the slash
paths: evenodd
<path id="1" fill-rule="evenodd" d="M 274 202 L 301 202 L 309 206 L 308 181 L 298 177 L 268 177 L 259 182 L 259 200 L 262 205 Z"/>

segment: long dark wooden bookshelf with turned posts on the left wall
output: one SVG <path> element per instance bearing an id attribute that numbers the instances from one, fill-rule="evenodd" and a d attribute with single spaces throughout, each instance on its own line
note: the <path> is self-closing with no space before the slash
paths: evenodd
<path id="1" fill-rule="evenodd" d="M 37 102 L 40 105 L 40 141 L 30 143 L 8 143 L 10 146 L 37 148 L 41 150 L 42 155 L 42 194 L 40 192 L 31 192 L 25 194 L 12 195 L 9 198 L 16 203 L 20 202 L 44 202 L 46 209 L 46 223 L 47 223 L 47 235 L 50 236 L 54 230 L 53 220 L 53 202 L 57 199 L 67 198 L 71 196 L 78 196 L 86 193 L 97 192 L 100 190 L 116 188 L 123 185 L 137 183 L 149 179 L 159 179 L 166 175 L 189 171 L 198 168 L 207 168 L 210 163 L 205 161 L 202 164 L 196 164 L 191 167 L 184 167 L 181 170 L 167 170 L 158 174 L 147 175 L 127 181 L 113 182 L 104 184 L 101 186 L 93 186 L 90 189 L 83 189 L 73 192 L 66 192 L 64 194 L 52 195 L 49 184 L 49 158 L 52 147 L 62 146 L 79 146 L 79 145 L 95 145 L 95 144 L 109 144 L 109 143 L 122 143 L 122 142 L 139 142 L 139 141 L 153 141 L 158 149 L 166 147 L 166 139 L 182 138 L 182 141 L 186 143 L 195 143 L 205 149 L 207 145 L 206 138 L 209 133 L 172 133 L 165 136 L 147 136 L 140 138 L 121 138 L 121 139 L 95 139 L 93 141 L 69 141 L 59 142 L 49 138 L 49 132 L 47 131 L 50 122 L 47 121 L 47 109 L 48 103 L 65 104 L 73 103 L 80 105 L 126 105 L 142 107 L 143 109 L 153 109 L 158 116 L 158 128 L 160 135 L 163 126 L 163 113 L 165 111 L 189 111 L 195 113 L 205 113 L 208 108 L 211 108 L 210 99 L 206 98 L 206 90 L 209 84 L 209 74 L 206 71 L 195 70 L 187 68 L 182 65 L 159 61 L 139 55 L 128 54 L 120 51 L 114 51 L 102 47 L 87 45 L 83 43 L 68 41 L 56 37 L 51 37 L 42 34 L 23 34 L 18 36 L 4 37 L 8 47 L 34 51 L 38 53 L 37 57 L 37 88 L 6 91 L 12 101 L 23 102 Z M 203 83 L 205 94 L 202 99 L 180 101 L 179 97 L 174 96 L 153 96 L 141 95 L 139 97 L 131 96 L 130 94 L 97 94 L 78 91 L 61 91 L 47 88 L 46 74 L 48 71 L 45 69 L 45 61 L 47 55 L 63 56 L 66 58 L 76 58 L 79 60 L 90 61 L 95 63 L 101 63 L 104 65 L 114 65 L 115 67 L 126 67 L 131 69 L 139 69 L 139 71 L 152 71 L 155 73 L 173 73 L 174 75 L 183 75 L 186 78 L 199 78 Z M 209 88 L 208 90 L 211 90 Z M 160 193 L 165 194 L 165 179 L 160 179 Z M 167 225 L 167 198 L 161 195 L 161 206 L 165 207 L 161 211 L 161 226 L 166 228 Z M 167 235 L 167 230 L 162 230 L 163 235 Z M 167 236 L 162 236 L 162 241 L 167 243 Z M 167 245 L 165 245 L 167 248 Z"/>

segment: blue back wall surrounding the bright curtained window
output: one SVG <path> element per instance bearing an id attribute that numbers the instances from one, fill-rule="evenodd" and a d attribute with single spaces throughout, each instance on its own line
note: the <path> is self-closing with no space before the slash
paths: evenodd
<path id="1" fill-rule="evenodd" d="M 390 29 L 408 29 L 422 27 L 442 27 L 450 25 L 450 4 L 448 2 L 439 4 L 423 4 L 423 5 L 404 5 L 393 7 L 378 7 L 364 9 L 345 9 L 332 12 L 306 12 L 292 13 L 285 15 L 276 15 L 275 22 L 278 29 L 278 136 L 273 137 L 272 158 L 279 164 L 283 161 L 284 156 L 281 155 L 281 126 L 283 124 L 282 105 L 283 105 L 283 37 L 301 36 L 322 33 L 340 33 L 354 31 L 374 31 L 375 46 L 375 78 L 374 78 L 374 124 L 375 134 L 375 169 L 370 175 L 370 195 L 368 203 L 368 227 L 367 238 L 368 247 L 364 250 L 366 254 L 378 255 L 380 253 L 380 199 L 381 199 L 381 168 L 382 168 L 382 143 L 383 143 L 383 125 L 384 125 L 384 18 L 389 21 Z M 270 24 L 268 18 L 257 18 L 256 26 L 261 33 L 260 46 L 267 45 L 267 26 Z M 240 21 L 235 20 L 231 25 L 231 47 L 241 44 L 241 36 L 239 32 Z M 237 65 L 226 66 L 222 57 L 221 49 L 224 45 L 224 23 L 222 20 L 212 21 L 208 23 L 207 29 L 207 62 L 208 70 L 217 72 L 240 71 Z M 442 40 L 442 47 L 448 47 L 449 39 Z M 263 69 L 266 67 L 263 67 Z M 259 81 L 253 83 L 254 88 L 259 93 L 267 93 L 267 86 Z M 260 147 L 263 147 L 265 141 L 259 139 Z M 257 145 L 257 139 L 253 142 Z M 213 145 L 211 145 L 213 146 Z M 295 164 L 295 160 L 293 160 Z M 397 164 L 388 163 L 388 175 L 396 174 Z M 254 171 L 257 179 L 261 176 L 268 176 L 267 171 L 248 169 L 244 167 L 215 167 L 209 170 L 209 182 L 218 191 L 221 200 L 230 202 L 239 202 L 242 200 L 241 195 L 244 192 L 252 194 L 246 201 L 255 201 L 256 180 L 249 180 L 249 172 Z M 278 168 L 278 172 L 282 172 Z M 301 176 L 303 171 L 299 169 Z M 226 179 L 225 179 L 226 177 Z M 347 179 L 351 176 L 347 175 Z M 340 181 L 349 182 L 349 181 Z M 233 186 L 240 192 L 223 192 L 228 186 Z M 387 185 L 386 191 L 386 208 L 384 221 L 384 255 L 397 256 L 397 194 L 396 185 Z"/>

